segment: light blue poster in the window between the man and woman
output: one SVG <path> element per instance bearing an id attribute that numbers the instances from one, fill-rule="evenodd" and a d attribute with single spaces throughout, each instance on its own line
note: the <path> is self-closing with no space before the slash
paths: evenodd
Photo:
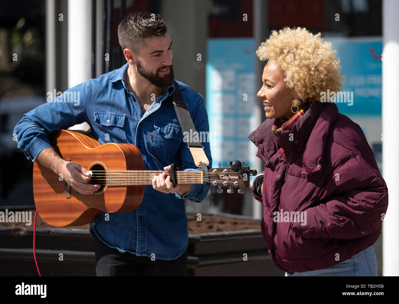
<path id="1" fill-rule="evenodd" d="M 256 147 L 248 139 L 249 133 L 257 128 L 254 60 L 253 38 L 207 41 L 206 105 L 212 132 L 212 167 L 218 161 L 222 167 L 235 160 L 254 164 Z"/>

